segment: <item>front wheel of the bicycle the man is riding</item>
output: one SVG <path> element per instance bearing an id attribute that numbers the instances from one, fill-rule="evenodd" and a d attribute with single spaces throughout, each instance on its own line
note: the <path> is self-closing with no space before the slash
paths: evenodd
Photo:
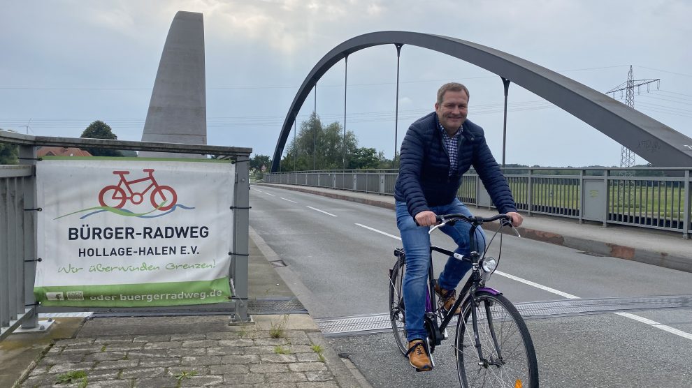
<path id="1" fill-rule="evenodd" d="M 517 308 L 502 295 L 477 292 L 475 303 L 464 304 L 456 324 L 455 345 L 461 387 L 538 387 L 531 335 Z"/>

